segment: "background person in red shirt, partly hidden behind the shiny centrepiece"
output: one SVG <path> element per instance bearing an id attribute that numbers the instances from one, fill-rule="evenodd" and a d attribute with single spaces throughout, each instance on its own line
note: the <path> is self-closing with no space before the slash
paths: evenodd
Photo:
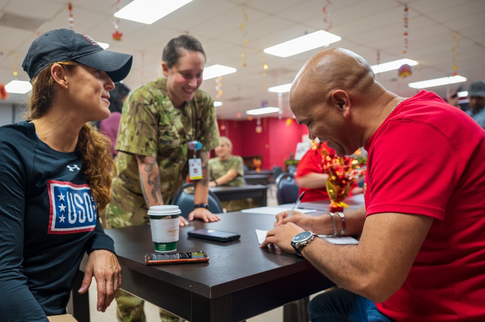
<path id="1" fill-rule="evenodd" d="M 303 155 L 296 167 L 295 182 L 300 187 L 298 194 L 301 195 L 305 191 L 302 199 L 304 202 L 329 199 L 325 188 L 328 174 L 324 173 L 322 168 L 323 150 L 335 153 L 335 150 L 329 148 L 325 143 L 312 141 L 310 149 Z M 354 183 L 349 196 L 361 194 L 362 190 L 363 188 Z"/>

